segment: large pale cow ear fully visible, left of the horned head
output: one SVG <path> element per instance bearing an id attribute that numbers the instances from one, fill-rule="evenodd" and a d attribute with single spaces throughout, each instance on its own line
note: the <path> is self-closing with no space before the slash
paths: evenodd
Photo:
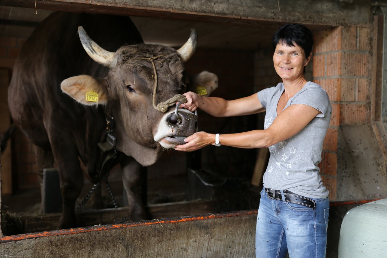
<path id="1" fill-rule="evenodd" d="M 60 88 L 77 102 L 92 106 L 108 103 L 106 81 L 89 75 L 78 75 L 63 80 Z"/>

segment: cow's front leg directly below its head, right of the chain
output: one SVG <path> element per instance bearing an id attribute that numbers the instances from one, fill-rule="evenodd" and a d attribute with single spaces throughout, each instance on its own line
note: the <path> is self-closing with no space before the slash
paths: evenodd
<path id="1" fill-rule="evenodd" d="M 144 207 L 143 184 L 146 183 L 144 167 L 132 157 L 123 157 L 120 161 L 122 168 L 122 182 L 128 197 L 129 219 L 139 221 L 149 219 L 149 214 Z"/>

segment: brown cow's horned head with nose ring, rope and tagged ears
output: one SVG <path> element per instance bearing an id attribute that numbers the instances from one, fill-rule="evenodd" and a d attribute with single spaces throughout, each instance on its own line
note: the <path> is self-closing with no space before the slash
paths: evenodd
<path id="1" fill-rule="evenodd" d="M 62 91 L 85 105 L 110 106 L 116 120 L 118 150 L 142 165 L 150 165 L 156 162 L 161 146 L 173 148 L 197 131 L 197 116 L 179 109 L 176 118 L 176 100 L 171 102 L 176 95 L 195 91 L 197 86 L 204 87 L 207 95 L 217 87 L 213 73 L 202 72 L 189 80 L 185 72 L 183 62 L 196 48 L 195 30 L 179 50 L 158 44 L 135 44 L 122 46 L 115 53 L 98 46 L 82 27 L 78 32 L 87 54 L 110 70 L 105 78 L 79 75 L 63 80 Z M 154 108 L 168 100 L 172 104 L 169 108 L 167 105 L 166 112 Z"/>

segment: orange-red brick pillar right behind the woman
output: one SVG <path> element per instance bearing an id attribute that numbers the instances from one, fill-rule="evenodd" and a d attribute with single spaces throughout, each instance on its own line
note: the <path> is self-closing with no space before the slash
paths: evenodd
<path id="1" fill-rule="evenodd" d="M 339 125 L 370 123 L 370 30 L 336 27 L 314 33 L 314 82 L 328 92 L 332 118 L 324 140 L 321 175 L 336 199 Z"/>

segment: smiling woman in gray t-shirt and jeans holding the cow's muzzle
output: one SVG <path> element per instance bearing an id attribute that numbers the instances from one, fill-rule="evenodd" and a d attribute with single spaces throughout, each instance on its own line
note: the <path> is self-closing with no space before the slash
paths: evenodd
<path id="1" fill-rule="evenodd" d="M 233 134 L 197 132 L 176 150 L 193 151 L 207 145 L 238 148 L 269 147 L 257 216 L 257 257 L 325 257 L 329 213 L 328 190 L 317 164 L 332 112 L 329 97 L 305 79 L 312 56 L 312 32 L 286 24 L 272 37 L 273 62 L 283 83 L 257 94 L 226 101 L 187 92 L 190 111 L 200 108 L 212 116 L 238 116 L 266 111 L 264 130 Z"/>

